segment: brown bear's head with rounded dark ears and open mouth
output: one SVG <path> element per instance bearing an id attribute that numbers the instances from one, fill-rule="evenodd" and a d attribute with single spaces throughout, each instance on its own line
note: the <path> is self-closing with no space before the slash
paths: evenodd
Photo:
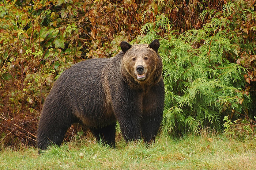
<path id="1" fill-rule="evenodd" d="M 158 55 L 159 45 L 157 39 L 153 40 L 149 45 L 131 46 L 125 41 L 121 42 L 120 46 L 124 53 L 122 71 L 126 72 L 123 73 L 126 79 L 132 77 L 139 84 L 148 84 L 148 81 L 151 83 L 158 82 L 162 74 L 162 59 Z"/>

